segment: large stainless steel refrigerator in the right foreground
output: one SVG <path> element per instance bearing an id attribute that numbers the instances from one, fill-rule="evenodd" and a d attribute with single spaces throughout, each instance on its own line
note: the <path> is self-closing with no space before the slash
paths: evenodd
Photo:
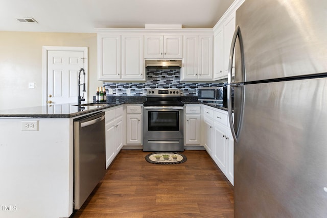
<path id="1" fill-rule="evenodd" d="M 246 0 L 236 26 L 235 217 L 327 217 L 327 1 Z"/>

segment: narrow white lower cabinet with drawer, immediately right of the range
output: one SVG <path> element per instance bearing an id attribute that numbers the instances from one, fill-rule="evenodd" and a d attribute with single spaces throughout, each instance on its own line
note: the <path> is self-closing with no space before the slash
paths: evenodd
<path id="1" fill-rule="evenodd" d="M 185 106 L 185 128 L 184 144 L 185 146 L 200 146 L 201 132 L 201 106 Z"/>

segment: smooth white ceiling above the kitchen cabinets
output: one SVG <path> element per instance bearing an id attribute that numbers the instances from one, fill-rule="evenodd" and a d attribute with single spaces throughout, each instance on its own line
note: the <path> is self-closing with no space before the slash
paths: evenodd
<path id="1" fill-rule="evenodd" d="M 0 31 L 92 33 L 181 24 L 213 28 L 233 0 L 1 0 Z M 17 18 L 38 23 L 21 23 Z"/>

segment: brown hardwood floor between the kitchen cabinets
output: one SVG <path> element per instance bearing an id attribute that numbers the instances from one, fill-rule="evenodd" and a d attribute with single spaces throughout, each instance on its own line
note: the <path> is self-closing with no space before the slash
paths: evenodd
<path id="1" fill-rule="evenodd" d="M 122 150 L 77 217 L 233 217 L 233 188 L 206 151 L 181 164 L 152 164 Z"/>

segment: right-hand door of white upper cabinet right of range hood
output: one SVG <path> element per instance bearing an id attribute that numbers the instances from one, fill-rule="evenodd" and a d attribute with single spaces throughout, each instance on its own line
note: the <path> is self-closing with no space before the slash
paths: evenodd
<path id="1" fill-rule="evenodd" d="M 199 36 L 199 79 L 213 79 L 213 36 Z"/>

